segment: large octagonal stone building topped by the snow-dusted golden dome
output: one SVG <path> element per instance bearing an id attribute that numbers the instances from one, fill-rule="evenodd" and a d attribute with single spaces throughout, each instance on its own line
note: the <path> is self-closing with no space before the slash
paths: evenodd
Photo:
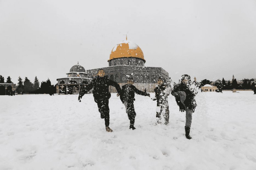
<path id="1" fill-rule="evenodd" d="M 157 85 L 157 78 L 162 76 L 169 78 L 169 73 L 161 67 L 145 67 L 146 60 L 140 47 L 128 41 L 118 43 L 112 49 L 108 60 L 108 67 L 103 67 L 105 76 L 116 81 L 120 86 L 126 84 L 127 77 L 132 75 L 134 86 L 139 90 L 146 89 L 147 92 L 154 92 Z M 87 70 L 90 78 L 95 78 L 98 69 Z M 116 88 L 110 86 L 111 93 L 117 93 Z"/>

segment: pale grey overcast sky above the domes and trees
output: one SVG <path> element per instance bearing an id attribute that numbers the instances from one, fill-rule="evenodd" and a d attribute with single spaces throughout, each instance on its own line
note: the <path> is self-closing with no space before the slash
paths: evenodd
<path id="1" fill-rule="evenodd" d="M 0 74 L 57 78 L 107 67 L 126 39 L 175 82 L 256 78 L 256 1 L 0 0 Z"/>

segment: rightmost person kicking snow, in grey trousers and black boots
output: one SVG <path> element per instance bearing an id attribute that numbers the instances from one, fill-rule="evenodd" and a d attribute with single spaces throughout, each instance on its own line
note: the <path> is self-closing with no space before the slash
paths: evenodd
<path id="1" fill-rule="evenodd" d="M 196 90 L 197 87 L 198 84 L 195 81 L 191 82 L 190 76 L 184 74 L 179 84 L 176 84 L 171 92 L 176 99 L 177 105 L 180 107 L 180 111 L 186 111 L 185 133 L 187 139 L 192 139 L 189 133 L 192 123 L 192 113 L 195 112 L 195 107 L 197 106 L 194 99 L 198 93 Z"/>

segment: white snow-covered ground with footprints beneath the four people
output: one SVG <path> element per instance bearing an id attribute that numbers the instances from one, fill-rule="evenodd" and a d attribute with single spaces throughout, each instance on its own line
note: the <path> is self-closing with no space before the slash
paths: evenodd
<path id="1" fill-rule="evenodd" d="M 168 126 L 155 125 L 156 101 L 135 98 L 131 130 L 124 105 L 111 94 L 110 133 L 92 94 L 82 102 L 78 95 L 0 96 L 0 170 L 256 169 L 252 91 L 199 92 L 191 140 L 172 95 Z"/>

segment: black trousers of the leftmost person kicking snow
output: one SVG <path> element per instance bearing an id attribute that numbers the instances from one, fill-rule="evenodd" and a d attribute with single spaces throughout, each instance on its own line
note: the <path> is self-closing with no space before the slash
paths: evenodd
<path id="1" fill-rule="evenodd" d="M 109 95 L 102 95 L 100 97 L 94 96 L 94 101 L 97 103 L 98 109 L 100 112 L 100 118 L 105 119 L 105 126 L 109 126 L 108 100 L 110 99 L 110 96 Z"/>

